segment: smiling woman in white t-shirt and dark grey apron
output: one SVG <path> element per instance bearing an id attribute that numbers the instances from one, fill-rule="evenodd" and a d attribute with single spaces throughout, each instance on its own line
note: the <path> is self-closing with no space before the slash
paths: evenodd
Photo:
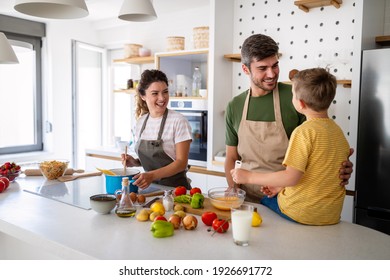
<path id="1" fill-rule="evenodd" d="M 136 145 L 137 158 L 122 154 L 126 166 L 142 166 L 134 176 L 134 185 L 147 188 L 152 182 L 190 189 L 187 178 L 191 126 L 180 113 L 167 108 L 168 79 L 159 70 L 145 70 L 137 88 Z"/>

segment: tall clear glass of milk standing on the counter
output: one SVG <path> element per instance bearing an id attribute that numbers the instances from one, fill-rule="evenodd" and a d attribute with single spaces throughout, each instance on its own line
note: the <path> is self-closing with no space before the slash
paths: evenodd
<path id="1" fill-rule="evenodd" d="M 253 210 L 254 207 L 247 204 L 231 209 L 233 240 L 239 246 L 249 245 Z"/>

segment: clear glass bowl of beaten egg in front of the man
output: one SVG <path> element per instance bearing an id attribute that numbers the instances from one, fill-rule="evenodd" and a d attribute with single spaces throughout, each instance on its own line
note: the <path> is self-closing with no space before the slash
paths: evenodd
<path id="1" fill-rule="evenodd" d="M 228 192 L 226 188 L 212 188 L 208 192 L 211 205 L 219 210 L 230 211 L 244 203 L 245 191 L 237 189 L 237 192 Z"/>

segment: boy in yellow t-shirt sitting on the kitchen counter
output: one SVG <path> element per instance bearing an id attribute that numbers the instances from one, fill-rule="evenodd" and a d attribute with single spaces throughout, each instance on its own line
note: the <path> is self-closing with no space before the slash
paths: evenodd
<path id="1" fill-rule="evenodd" d="M 291 135 L 283 161 L 286 170 L 231 171 L 238 184 L 263 185 L 261 191 L 267 196 L 261 204 L 301 224 L 329 225 L 340 221 L 345 188 L 339 180 L 339 163 L 348 158 L 349 144 L 341 128 L 328 117 L 336 87 L 336 78 L 322 68 L 295 74 L 292 102 L 306 121 Z"/>

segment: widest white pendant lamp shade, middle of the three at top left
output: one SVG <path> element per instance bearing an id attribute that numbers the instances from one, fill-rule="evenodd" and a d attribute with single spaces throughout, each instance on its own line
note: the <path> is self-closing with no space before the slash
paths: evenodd
<path id="1" fill-rule="evenodd" d="M 14 9 L 26 15 L 51 19 L 75 19 L 89 14 L 84 0 L 16 0 Z"/>

